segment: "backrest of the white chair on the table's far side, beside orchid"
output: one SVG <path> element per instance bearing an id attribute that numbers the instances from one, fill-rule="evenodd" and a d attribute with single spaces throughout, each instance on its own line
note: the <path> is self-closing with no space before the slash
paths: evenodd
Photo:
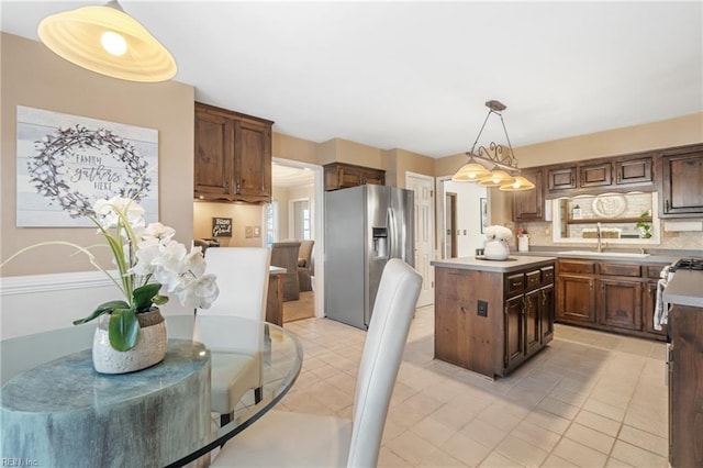
<path id="1" fill-rule="evenodd" d="M 270 250 L 266 247 L 216 247 L 205 254 L 205 271 L 217 276 L 220 296 L 198 314 L 266 320 Z"/>

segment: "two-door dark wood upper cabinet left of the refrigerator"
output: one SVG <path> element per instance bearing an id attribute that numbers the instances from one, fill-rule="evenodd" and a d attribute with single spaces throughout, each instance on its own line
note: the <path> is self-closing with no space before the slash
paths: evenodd
<path id="1" fill-rule="evenodd" d="M 270 201 L 274 122 L 200 102 L 194 121 L 196 198 Z"/>

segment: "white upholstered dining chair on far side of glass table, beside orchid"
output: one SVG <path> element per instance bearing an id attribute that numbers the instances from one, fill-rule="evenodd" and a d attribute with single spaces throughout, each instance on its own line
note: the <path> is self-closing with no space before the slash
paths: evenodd
<path id="1" fill-rule="evenodd" d="M 209 248 L 205 260 L 207 272 L 217 277 L 220 296 L 210 309 L 199 309 L 197 314 L 250 320 L 227 333 L 222 333 L 214 322 L 203 322 L 199 327 L 212 356 L 212 411 L 220 413 L 224 425 L 247 391 L 254 390 L 256 402 L 263 397 L 263 322 L 270 250 L 265 247 Z"/>

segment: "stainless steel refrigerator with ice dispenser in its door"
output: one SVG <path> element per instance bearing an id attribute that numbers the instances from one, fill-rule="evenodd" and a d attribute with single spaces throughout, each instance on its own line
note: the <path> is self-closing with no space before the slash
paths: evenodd
<path id="1" fill-rule="evenodd" d="M 325 316 L 367 330 L 389 258 L 414 266 L 414 192 L 365 185 L 325 192 Z"/>

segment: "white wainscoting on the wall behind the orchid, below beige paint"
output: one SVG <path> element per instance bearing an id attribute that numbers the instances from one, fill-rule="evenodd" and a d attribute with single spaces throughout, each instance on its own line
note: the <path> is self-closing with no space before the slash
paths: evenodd
<path id="1" fill-rule="evenodd" d="M 2 277 L 0 339 L 74 326 L 75 320 L 116 299 L 124 297 L 102 271 Z M 192 310 L 175 301 L 161 307 L 161 312 L 182 314 Z"/>

